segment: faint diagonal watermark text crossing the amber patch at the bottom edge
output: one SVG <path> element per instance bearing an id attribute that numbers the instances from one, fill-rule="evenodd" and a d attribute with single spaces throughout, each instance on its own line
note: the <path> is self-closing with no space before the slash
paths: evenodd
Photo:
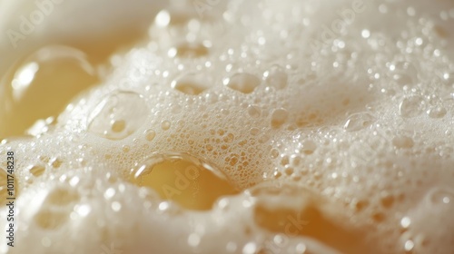
<path id="1" fill-rule="evenodd" d="M 269 253 L 282 253 L 282 250 L 288 247 L 289 239 L 301 235 L 301 231 L 309 224 L 309 221 L 301 220 L 301 212 L 299 212 L 296 217 L 290 214 L 287 215 L 287 220 L 283 234 L 279 234 L 274 239 L 269 239 L 264 242 L 264 247 Z"/>

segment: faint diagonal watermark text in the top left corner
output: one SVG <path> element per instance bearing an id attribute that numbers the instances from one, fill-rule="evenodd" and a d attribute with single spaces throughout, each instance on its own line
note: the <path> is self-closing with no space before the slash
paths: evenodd
<path id="1" fill-rule="evenodd" d="M 6 31 L 13 47 L 17 48 L 20 41 L 25 40 L 27 35 L 33 34 L 36 26 L 43 24 L 45 17 L 54 12 L 55 5 L 60 5 L 63 2 L 64 0 L 36 0 L 35 10 L 29 15 L 19 16 L 20 24 L 17 29 L 8 29 Z"/>

